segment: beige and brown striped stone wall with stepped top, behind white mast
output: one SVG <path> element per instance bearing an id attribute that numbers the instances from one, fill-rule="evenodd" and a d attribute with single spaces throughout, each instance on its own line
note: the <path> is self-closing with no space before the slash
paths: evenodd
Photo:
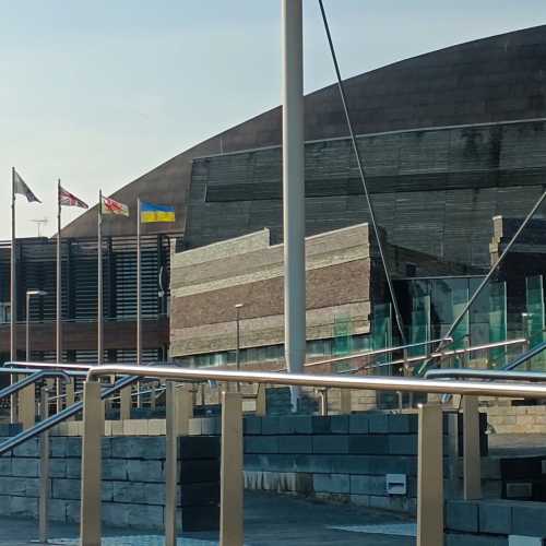
<path id="1" fill-rule="evenodd" d="M 174 357 L 233 351 L 235 305 L 240 346 L 284 342 L 284 254 L 268 229 L 171 259 L 170 354 Z M 353 334 L 369 332 L 370 234 L 367 224 L 306 240 L 307 339 L 334 335 L 336 318 Z"/>

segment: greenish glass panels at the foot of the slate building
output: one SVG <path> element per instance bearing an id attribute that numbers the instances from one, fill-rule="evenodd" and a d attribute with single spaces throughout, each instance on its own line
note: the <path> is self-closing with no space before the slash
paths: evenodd
<path id="1" fill-rule="evenodd" d="M 477 289 L 483 277 L 429 277 L 395 281 L 395 288 L 401 306 L 401 313 L 406 328 L 407 343 L 425 343 L 441 339 L 447 334 L 451 324 L 464 311 L 468 299 Z M 483 345 L 490 342 L 500 342 L 520 337 L 525 328 L 530 345 L 533 347 L 546 340 L 544 278 L 542 275 L 527 277 L 525 282 L 525 299 L 518 294 L 508 293 L 506 282 L 489 283 L 465 313 L 454 330 L 454 348 Z M 518 292 L 518 290 L 515 290 Z M 518 299 L 512 307 L 525 309 L 526 313 L 509 312 L 509 297 Z M 526 323 L 525 323 L 526 319 Z M 391 304 L 376 304 L 372 306 L 371 332 L 361 335 L 354 334 L 354 327 L 348 317 L 339 316 L 332 324 L 332 336 L 307 342 L 307 358 L 329 358 L 345 356 L 367 351 L 399 345 Z M 526 324 L 526 325 L 525 325 Z M 434 346 L 434 345 L 432 345 Z M 412 347 L 408 356 L 425 355 L 426 346 Z M 522 352 L 521 345 L 509 349 L 505 347 L 473 352 L 464 357 L 455 356 L 450 366 L 489 366 L 498 368 L 505 366 L 511 358 Z M 396 358 L 401 355 L 396 355 Z M 186 366 L 226 366 L 235 364 L 235 351 L 226 351 L 205 355 L 193 355 L 178 359 Z M 284 359 L 283 345 L 242 348 L 241 363 L 282 361 Z M 391 354 L 381 355 L 370 360 L 370 365 L 379 365 L 377 373 L 392 373 L 389 363 Z M 342 371 L 351 364 L 340 363 L 335 369 Z M 546 354 L 536 357 L 532 363 L 533 369 L 546 369 Z"/>

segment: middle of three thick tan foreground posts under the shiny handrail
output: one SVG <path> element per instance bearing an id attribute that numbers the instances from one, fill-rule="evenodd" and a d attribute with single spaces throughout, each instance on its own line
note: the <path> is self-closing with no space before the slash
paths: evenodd
<path id="1" fill-rule="evenodd" d="M 242 546 L 242 396 L 222 393 L 219 546 Z"/>

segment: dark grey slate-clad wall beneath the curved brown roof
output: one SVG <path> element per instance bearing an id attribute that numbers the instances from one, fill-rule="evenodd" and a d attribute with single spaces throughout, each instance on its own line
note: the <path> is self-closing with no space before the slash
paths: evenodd
<path id="1" fill-rule="evenodd" d="M 495 215 L 524 216 L 546 183 L 546 121 L 361 135 L 359 150 L 389 242 L 487 266 Z M 307 235 L 369 221 L 346 139 L 306 145 Z M 193 162 L 190 248 L 269 227 L 282 240 L 280 147 Z"/>

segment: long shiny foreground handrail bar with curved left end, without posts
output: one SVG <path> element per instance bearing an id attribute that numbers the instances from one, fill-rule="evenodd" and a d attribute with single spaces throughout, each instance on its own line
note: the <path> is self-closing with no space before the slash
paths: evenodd
<path id="1" fill-rule="evenodd" d="M 304 373 L 276 373 L 265 371 L 199 370 L 195 368 L 166 368 L 106 364 L 95 366 L 87 373 L 87 381 L 100 376 L 127 375 L 174 381 L 226 381 L 244 383 L 285 384 L 296 387 L 328 387 L 377 391 L 425 392 L 435 394 L 462 394 L 472 396 L 544 397 L 546 385 L 520 383 L 483 383 L 461 381 L 432 381 L 403 377 L 344 377 L 312 376 Z M 1 451 L 0 451 L 1 454 Z"/>

